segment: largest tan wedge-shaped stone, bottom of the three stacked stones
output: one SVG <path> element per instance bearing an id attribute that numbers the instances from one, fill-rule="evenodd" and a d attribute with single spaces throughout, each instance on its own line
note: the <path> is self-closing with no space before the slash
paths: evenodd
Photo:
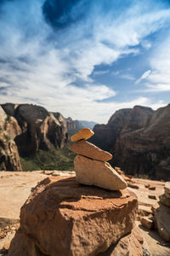
<path id="1" fill-rule="evenodd" d="M 110 190 L 127 188 L 127 183 L 123 177 L 107 162 L 90 160 L 82 155 L 77 155 L 74 166 L 79 183 Z"/>

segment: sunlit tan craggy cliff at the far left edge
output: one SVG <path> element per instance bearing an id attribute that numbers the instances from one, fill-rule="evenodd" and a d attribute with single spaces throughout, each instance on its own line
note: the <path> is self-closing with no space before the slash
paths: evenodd
<path id="1" fill-rule="evenodd" d="M 17 121 L 8 116 L 0 106 L 0 170 L 22 171 L 14 137 L 20 134 Z"/>

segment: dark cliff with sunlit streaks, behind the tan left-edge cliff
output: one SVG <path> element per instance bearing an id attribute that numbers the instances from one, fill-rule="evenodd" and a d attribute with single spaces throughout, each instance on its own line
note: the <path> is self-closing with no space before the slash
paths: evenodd
<path id="1" fill-rule="evenodd" d="M 20 125 L 21 133 L 14 140 L 21 156 L 33 154 L 38 149 L 63 148 L 67 143 L 65 122 L 54 117 L 54 114 L 45 108 L 11 103 L 3 104 L 2 108 L 8 115 L 17 119 Z"/>

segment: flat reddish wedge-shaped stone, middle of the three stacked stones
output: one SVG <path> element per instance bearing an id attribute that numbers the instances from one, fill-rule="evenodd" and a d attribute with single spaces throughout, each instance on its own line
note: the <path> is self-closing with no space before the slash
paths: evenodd
<path id="1" fill-rule="evenodd" d="M 88 143 L 85 140 L 74 143 L 70 149 L 71 151 L 77 154 L 82 154 L 83 156 L 87 156 L 94 160 L 100 160 L 105 162 L 105 161 L 111 160 L 112 158 L 112 154 L 104 150 L 101 150 L 100 148 L 96 147 L 94 144 Z"/>

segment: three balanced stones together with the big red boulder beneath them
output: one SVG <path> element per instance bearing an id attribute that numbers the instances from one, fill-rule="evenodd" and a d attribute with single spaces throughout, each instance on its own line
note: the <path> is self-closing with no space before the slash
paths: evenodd
<path id="1" fill-rule="evenodd" d="M 72 137 L 77 177 L 49 176 L 31 190 L 8 256 L 143 255 L 137 197 L 106 162 L 111 154 L 86 141 L 92 134 Z"/>

